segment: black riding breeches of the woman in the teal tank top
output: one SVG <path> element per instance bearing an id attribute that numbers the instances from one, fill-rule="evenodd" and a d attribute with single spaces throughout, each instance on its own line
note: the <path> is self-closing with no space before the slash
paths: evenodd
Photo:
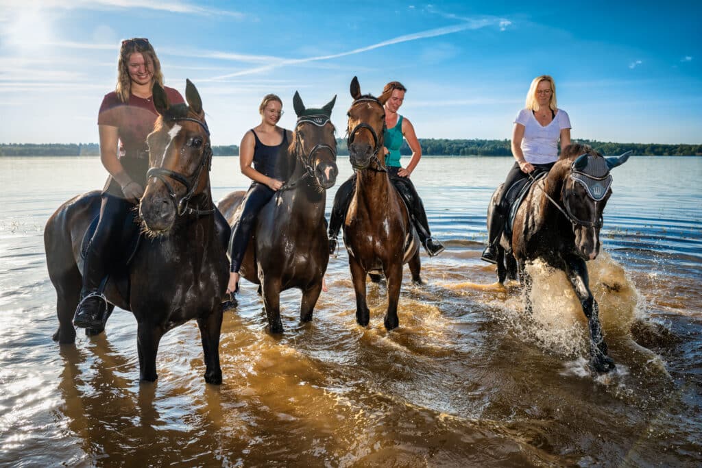
<path id="1" fill-rule="evenodd" d="M 409 210 L 412 224 L 417 229 L 419 240 L 424 243 L 426 239 L 432 236 L 429 229 L 429 221 L 427 220 L 427 213 L 424 210 L 424 203 L 422 203 L 422 199 L 420 199 L 412 181 L 407 177 L 400 177 L 397 175 L 397 171 L 399 171 L 398 167 L 388 167 L 388 177 L 392 185 L 397 189 L 397 192 L 402 196 Z M 331 208 L 331 217 L 329 219 L 329 236 L 332 238 L 336 237 L 339 229 L 341 229 L 355 189 L 356 174 L 348 178 L 339 187 L 336 196 L 334 196 L 334 204 Z"/>

